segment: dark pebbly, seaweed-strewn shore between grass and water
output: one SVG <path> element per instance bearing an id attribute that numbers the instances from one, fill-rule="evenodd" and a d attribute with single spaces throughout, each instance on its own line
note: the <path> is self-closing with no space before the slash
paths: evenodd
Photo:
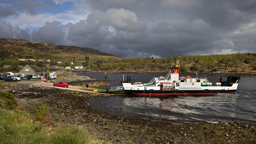
<path id="1" fill-rule="evenodd" d="M 256 124 L 178 123 L 170 120 L 145 120 L 100 113 L 85 104 L 104 94 L 78 92 L 36 85 L 3 84 L 20 109 L 48 107 L 47 118 L 56 126 L 83 125 L 88 132 L 107 143 L 256 143 Z"/>

